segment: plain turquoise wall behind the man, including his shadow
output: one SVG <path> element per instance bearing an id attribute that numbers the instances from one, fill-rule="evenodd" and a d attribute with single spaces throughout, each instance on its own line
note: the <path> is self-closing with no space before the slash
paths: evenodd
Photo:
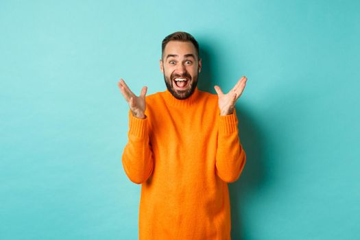
<path id="1" fill-rule="evenodd" d="M 121 164 L 160 43 L 200 43 L 200 89 L 246 75 L 232 239 L 360 239 L 360 1 L 1 1 L 0 239 L 137 239 Z"/>

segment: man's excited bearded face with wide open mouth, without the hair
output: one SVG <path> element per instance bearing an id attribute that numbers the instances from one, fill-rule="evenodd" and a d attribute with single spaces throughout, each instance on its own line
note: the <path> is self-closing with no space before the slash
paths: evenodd
<path id="1" fill-rule="evenodd" d="M 201 71 L 201 59 L 191 42 L 170 41 L 167 43 L 160 71 L 164 74 L 169 92 L 177 99 L 187 99 L 195 91 Z"/>

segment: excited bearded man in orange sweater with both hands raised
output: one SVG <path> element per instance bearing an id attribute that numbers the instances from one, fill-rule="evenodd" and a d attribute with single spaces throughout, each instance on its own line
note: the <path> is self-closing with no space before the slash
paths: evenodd
<path id="1" fill-rule="evenodd" d="M 163 40 L 160 71 L 167 91 L 145 98 L 121 79 L 130 106 L 123 168 L 141 185 L 139 239 L 230 239 L 228 182 L 245 165 L 235 102 L 245 88 L 241 77 L 217 95 L 197 89 L 202 68 L 193 36 L 175 32 Z"/>

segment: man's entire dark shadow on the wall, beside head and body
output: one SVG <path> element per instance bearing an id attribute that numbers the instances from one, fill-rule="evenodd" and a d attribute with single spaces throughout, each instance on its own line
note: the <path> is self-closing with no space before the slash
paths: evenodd
<path id="1" fill-rule="evenodd" d="M 216 51 L 206 43 L 201 43 L 202 72 L 198 82 L 198 88 L 203 91 L 215 93 L 214 86 L 221 82 L 214 81 L 212 69 L 217 59 Z M 246 91 L 246 88 L 245 90 Z M 259 190 L 267 181 L 265 175 L 265 147 L 261 129 L 256 125 L 256 119 L 252 117 L 251 110 L 241 105 L 241 97 L 237 101 L 237 119 L 239 119 L 239 137 L 241 145 L 246 153 L 246 164 L 237 182 L 228 184 L 231 206 L 231 239 L 249 239 L 250 235 L 245 229 L 244 206 L 250 201 L 250 195 Z"/>

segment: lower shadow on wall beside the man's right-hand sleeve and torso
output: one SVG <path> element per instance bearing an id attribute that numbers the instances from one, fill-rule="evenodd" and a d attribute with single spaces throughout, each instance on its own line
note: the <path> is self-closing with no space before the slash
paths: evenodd
<path id="1" fill-rule="evenodd" d="M 238 104 L 239 105 L 239 104 Z M 251 203 L 252 195 L 260 191 L 269 176 L 265 171 L 265 143 L 261 129 L 256 125 L 256 119 L 251 116 L 251 110 L 245 106 L 237 106 L 239 119 L 239 138 L 245 150 L 246 164 L 237 182 L 229 184 L 231 203 L 231 236 L 232 239 L 250 239 L 246 232 L 245 207 Z"/>

